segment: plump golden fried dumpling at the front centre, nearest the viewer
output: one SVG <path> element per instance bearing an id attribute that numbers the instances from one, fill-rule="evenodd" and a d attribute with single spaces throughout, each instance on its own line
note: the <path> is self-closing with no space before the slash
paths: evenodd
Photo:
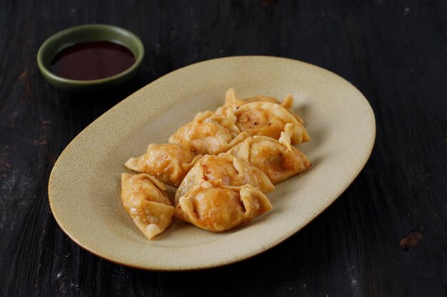
<path id="1" fill-rule="evenodd" d="M 180 197 L 174 217 L 221 232 L 247 224 L 271 208 L 266 195 L 250 184 L 230 187 L 211 180 L 195 184 Z"/>

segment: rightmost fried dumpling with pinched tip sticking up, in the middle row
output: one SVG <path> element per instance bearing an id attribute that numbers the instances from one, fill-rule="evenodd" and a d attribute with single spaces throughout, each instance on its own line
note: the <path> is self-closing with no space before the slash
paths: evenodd
<path id="1" fill-rule="evenodd" d="M 288 132 L 281 132 L 279 140 L 266 136 L 249 137 L 228 150 L 228 153 L 258 167 L 273 184 L 311 167 L 306 155 L 291 146 Z"/>

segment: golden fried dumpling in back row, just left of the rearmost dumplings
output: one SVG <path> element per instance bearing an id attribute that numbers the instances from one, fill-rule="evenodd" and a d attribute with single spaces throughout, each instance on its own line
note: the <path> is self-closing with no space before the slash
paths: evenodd
<path id="1" fill-rule="evenodd" d="M 235 123 L 234 116 L 214 115 L 209 110 L 198 113 L 192 122 L 169 137 L 169 143 L 183 145 L 196 154 L 217 155 L 250 136 L 241 132 Z"/>

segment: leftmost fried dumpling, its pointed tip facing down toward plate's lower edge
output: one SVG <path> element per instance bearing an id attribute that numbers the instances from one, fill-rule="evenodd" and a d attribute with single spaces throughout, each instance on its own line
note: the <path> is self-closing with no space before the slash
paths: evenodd
<path id="1" fill-rule="evenodd" d="M 121 174 L 121 202 L 147 239 L 172 223 L 174 207 L 162 182 L 149 174 Z"/>

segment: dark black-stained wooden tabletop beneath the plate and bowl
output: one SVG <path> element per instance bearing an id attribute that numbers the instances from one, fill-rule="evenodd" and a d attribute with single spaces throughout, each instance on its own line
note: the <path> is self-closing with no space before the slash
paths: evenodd
<path id="1" fill-rule="evenodd" d="M 0 296 L 447 295 L 447 1 L 103 2 L 0 2 Z M 89 23 L 141 37 L 139 77 L 103 95 L 50 87 L 39 46 Z M 217 269 L 129 269 L 68 239 L 46 187 L 76 134 L 161 75 L 251 54 L 328 68 L 366 95 L 376 145 L 351 187 L 283 244 Z"/>

